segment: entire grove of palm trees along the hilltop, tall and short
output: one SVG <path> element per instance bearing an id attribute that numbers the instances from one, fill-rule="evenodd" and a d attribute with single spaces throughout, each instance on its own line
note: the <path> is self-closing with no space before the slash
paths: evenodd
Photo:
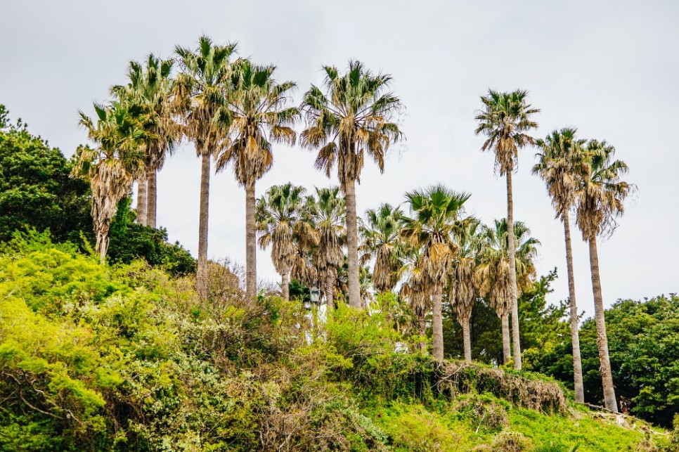
<path id="1" fill-rule="evenodd" d="M 507 181 L 507 216 L 491 226 L 465 214 L 468 193 L 436 185 L 406 193 L 408 213 L 384 204 L 356 214 L 356 183 L 366 156 L 384 171 L 384 157 L 403 138 L 397 122 L 403 106 L 389 91 L 391 77 L 351 60 L 345 72 L 324 66 L 321 86 L 311 85 L 292 105 L 294 82 L 279 82 L 276 67 L 236 58 L 236 45 L 200 37 L 193 49 L 177 46 L 172 59 L 150 55 L 131 62 L 129 82 L 111 89 L 112 100 L 95 104 L 96 117 L 80 112 L 80 124 L 96 146 L 81 146 L 75 174 L 92 187 L 96 252 L 105 261 L 108 228 L 117 202 L 138 184 L 137 221 L 156 224 L 156 174 L 182 139 L 201 158 L 197 288 L 206 296 L 209 179 L 233 167 L 245 188 L 246 295 L 257 295 L 256 247 L 271 244 L 283 296 L 290 278 L 319 285 L 329 306 L 338 295 L 354 307 L 366 306 L 369 281 L 377 292 L 399 288 L 422 332 L 432 311 L 432 353 L 444 356 L 441 304 L 455 306 L 463 327 L 465 359 L 471 359 L 470 316 L 474 299 L 486 297 L 503 325 L 505 362 L 521 368 L 517 297 L 531 283 L 538 241 L 513 218 L 512 174 L 518 151 L 537 146 L 533 172 L 545 180 L 557 218 L 564 223 L 569 270 L 569 301 L 574 349 L 576 399 L 582 401 L 578 316 L 572 271 L 569 215 L 590 245 L 590 263 L 599 333 L 604 395 L 616 409 L 603 317 L 597 236 L 611 233 L 623 200 L 633 186 L 621 181 L 626 165 L 613 160 L 605 141 L 576 138 L 574 129 L 536 140 L 530 133 L 539 112 L 526 91 L 489 90 L 481 96 L 476 134 L 481 150 L 495 155 L 496 170 Z M 299 134 L 295 126 L 304 120 Z M 317 151 L 316 168 L 339 186 L 308 195 L 292 183 L 256 197 L 256 183 L 273 164 L 274 143 Z M 361 253 L 359 255 L 359 253 Z M 368 262 L 374 262 L 370 271 Z M 511 340 L 510 340 L 511 317 Z"/>

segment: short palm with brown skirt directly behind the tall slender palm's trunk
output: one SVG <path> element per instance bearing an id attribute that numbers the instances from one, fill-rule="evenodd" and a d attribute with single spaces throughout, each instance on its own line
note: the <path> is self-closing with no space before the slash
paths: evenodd
<path id="1" fill-rule="evenodd" d="M 527 288 L 531 277 L 535 275 L 533 259 L 537 254 L 537 239 L 529 237 L 530 229 L 522 221 L 515 221 L 513 239 L 519 246 L 515 252 L 516 282 L 512 285 L 510 278 L 509 244 L 512 234 L 506 219 L 496 220 L 493 227 L 484 226 L 483 242 L 479 250 L 474 279 L 481 297 L 489 296 L 491 307 L 502 323 L 503 358 L 509 362 L 511 353 L 509 313 L 512 293 Z M 512 319 L 513 321 L 513 319 Z"/>

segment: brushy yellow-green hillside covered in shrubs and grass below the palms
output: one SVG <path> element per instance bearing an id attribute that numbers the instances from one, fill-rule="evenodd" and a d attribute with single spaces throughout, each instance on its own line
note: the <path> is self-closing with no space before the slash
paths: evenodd
<path id="1" fill-rule="evenodd" d="M 0 251 L 1 450 L 673 450 L 548 377 L 435 364 L 379 309 L 248 303 L 217 264 L 201 301 L 191 277 L 48 233 Z"/>

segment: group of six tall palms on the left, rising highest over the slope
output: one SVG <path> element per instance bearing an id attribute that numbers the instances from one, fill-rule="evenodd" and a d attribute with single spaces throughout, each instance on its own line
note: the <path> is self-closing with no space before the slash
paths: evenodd
<path id="1" fill-rule="evenodd" d="M 294 144 L 295 124 L 306 115 L 300 143 L 317 148 L 316 166 L 330 175 L 337 166 L 346 204 L 349 288 L 360 306 L 356 190 L 364 155 L 384 168 L 384 154 L 401 138 L 391 117 L 401 103 L 387 91 L 390 77 L 373 74 L 358 61 L 346 73 L 325 66 L 323 86 L 311 86 L 302 105 L 290 105 L 294 82 L 278 82 L 276 67 L 233 59 L 235 44 L 217 45 L 200 37 L 195 49 L 176 47 L 174 60 L 153 55 L 132 62 L 129 84 L 115 86 L 114 100 L 95 105 L 96 121 L 80 113 L 80 124 L 96 143 L 82 147 L 76 173 L 93 188 L 96 251 L 105 260 L 108 227 L 115 205 L 138 181 L 138 221 L 155 226 L 155 174 L 175 143 L 186 138 L 202 159 L 198 233 L 198 291 L 205 293 L 209 178 L 231 165 L 245 188 L 246 295 L 257 293 L 255 185 L 273 164 L 273 143 Z M 172 77 L 177 63 L 179 72 Z"/>

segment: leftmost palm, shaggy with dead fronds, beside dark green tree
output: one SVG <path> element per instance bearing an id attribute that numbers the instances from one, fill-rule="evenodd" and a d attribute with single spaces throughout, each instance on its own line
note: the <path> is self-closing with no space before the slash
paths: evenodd
<path id="1" fill-rule="evenodd" d="M 82 111 L 80 125 L 96 143 L 96 149 L 80 146 L 73 176 L 89 179 L 92 189 L 92 220 L 96 253 L 103 264 L 108 250 L 108 229 L 118 201 L 129 193 L 134 179 L 143 172 L 143 143 L 153 139 L 143 129 L 148 120 L 134 105 L 95 103 L 96 122 Z"/>

